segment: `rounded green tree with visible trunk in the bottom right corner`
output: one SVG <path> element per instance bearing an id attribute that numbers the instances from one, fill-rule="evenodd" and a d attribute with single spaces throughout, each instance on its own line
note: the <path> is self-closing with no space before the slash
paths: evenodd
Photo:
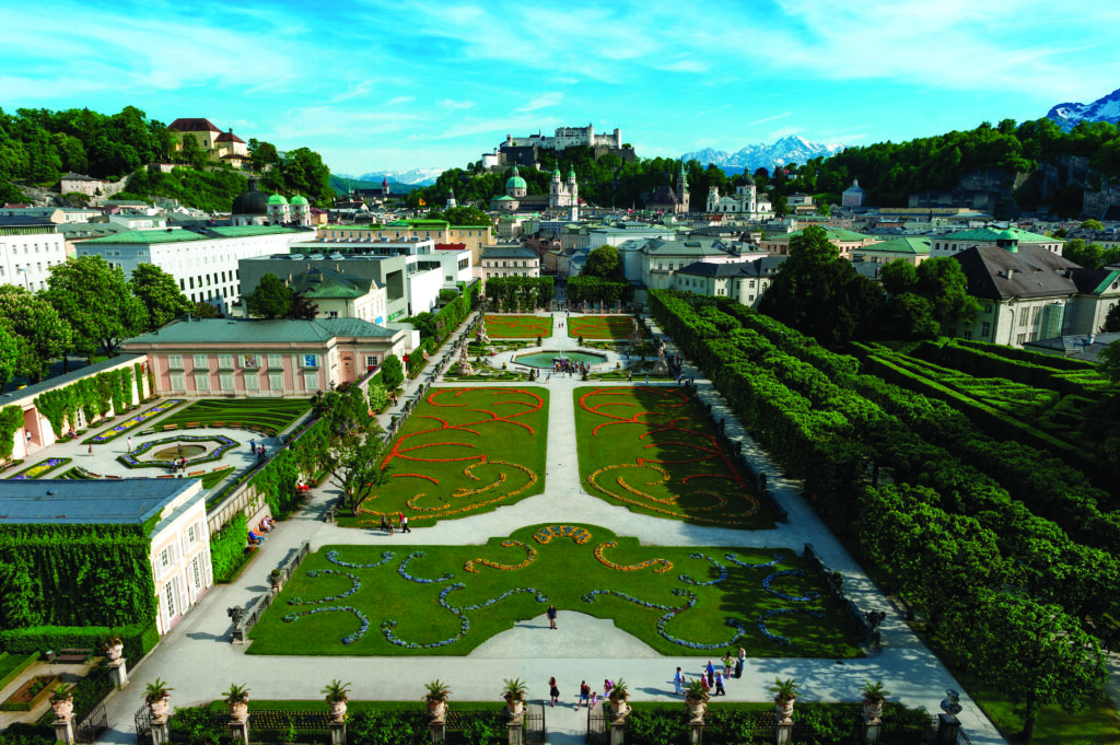
<path id="1" fill-rule="evenodd" d="M 1028 743 L 1042 707 L 1076 711 L 1102 693 L 1108 672 L 1100 644 L 1060 605 L 989 594 L 955 625 L 970 668 L 1025 706 Z"/>

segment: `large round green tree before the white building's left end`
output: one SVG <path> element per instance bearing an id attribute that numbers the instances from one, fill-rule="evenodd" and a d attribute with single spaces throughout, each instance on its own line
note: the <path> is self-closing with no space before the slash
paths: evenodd
<path id="1" fill-rule="evenodd" d="M 69 322 L 73 344 L 93 357 L 100 346 L 112 354 L 121 339 L 143 332 L 148 311 L 129 291 L 124 271 L 100 255 L 69 259 L 50 268 L 44 297 Z"/>

